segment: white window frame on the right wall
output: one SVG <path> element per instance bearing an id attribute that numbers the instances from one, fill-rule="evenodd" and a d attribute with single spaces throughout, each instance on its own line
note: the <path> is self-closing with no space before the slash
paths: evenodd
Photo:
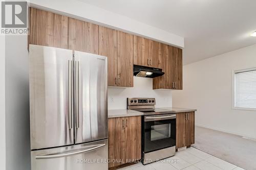
<path id="1" fill-rule="evenodd" d="M 256 66 L 255 67 L 250 67 L 250 68 L 243 68 L 243 69 L 233 69 L 232 70 L 232 109 L 234 110 L 249 110 L 249 111 L 256 111 L 256 108 L 248 108 L 248 107 L 236 107 L 234 106 L 234 75 L 236 74 L 236 72 L 243 72 L 243 71 L 252 71 L 252 70 L 256 70 Z"/>

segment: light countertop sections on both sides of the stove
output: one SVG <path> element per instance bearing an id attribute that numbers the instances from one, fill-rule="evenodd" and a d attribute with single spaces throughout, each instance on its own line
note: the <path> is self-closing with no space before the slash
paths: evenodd
<path id="1" fill-rule="evenodd" d="M 196 109 L 186 109 L 186 108 L 177 108 L 177 107 L 163 107 L 160 109 L 165 110 L 173 110 L 174 113 L 182 113 L 182 112 L 194 112 Z M 108 118 L 113 117 L 127 117 L 127 116 L 141 116 L 144 115 L 143 112 L 131 110 L 131 109 L 117 109 L 117 110 L 109 110 Z"/>

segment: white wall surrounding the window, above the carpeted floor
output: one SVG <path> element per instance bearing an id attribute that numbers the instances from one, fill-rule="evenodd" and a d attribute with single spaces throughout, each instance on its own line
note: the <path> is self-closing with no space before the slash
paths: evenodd
<path id="1" fill-rule="evenodd" d="M 256 45 L 183 66 L 173 106 L 196 108 L 196 125 L 256 138 L 256 111 L 232 109 L 232 70 L 256 66 Z"/>

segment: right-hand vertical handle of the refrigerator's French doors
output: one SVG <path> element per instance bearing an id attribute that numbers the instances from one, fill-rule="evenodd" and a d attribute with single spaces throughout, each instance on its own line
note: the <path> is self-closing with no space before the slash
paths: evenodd
<path id="1" fill-rule="evenodd" d="M 80 128 L 79 121 L 79 61 L 75 61 L 75 110 L 76 110 L 76 128 Z"/>

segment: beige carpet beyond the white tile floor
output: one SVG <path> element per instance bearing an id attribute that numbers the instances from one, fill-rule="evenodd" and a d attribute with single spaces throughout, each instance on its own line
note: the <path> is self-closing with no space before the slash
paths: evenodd
<path id="1" fill-rule="evenodd" d="M 256 169 L 256 141 L 241 136 L 196 127 L 192 147 L 244 169 Z"/>

